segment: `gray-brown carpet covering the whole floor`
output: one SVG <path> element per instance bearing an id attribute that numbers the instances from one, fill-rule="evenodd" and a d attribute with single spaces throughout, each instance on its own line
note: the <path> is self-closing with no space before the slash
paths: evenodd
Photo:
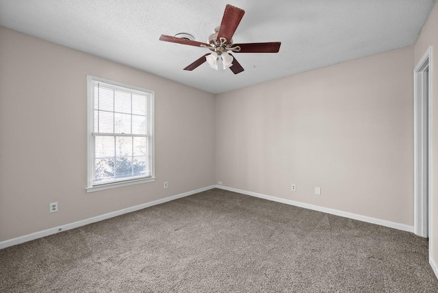
<path id="1" fill-rule="evenodd" d="M 413 233 L 209 190 L 0 250 L 0 292 L 438 292 Z"/>

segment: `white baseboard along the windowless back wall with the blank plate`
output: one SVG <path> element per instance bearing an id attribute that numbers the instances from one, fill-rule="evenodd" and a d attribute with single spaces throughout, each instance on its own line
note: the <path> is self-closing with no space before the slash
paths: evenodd
<path id="1" fill-rule="evenodd" d="M 216 185 L 216 188 L 220 188 L 223 190 L 229 190 L 229 191 L 237 192 L 237 193 L 242 193 L 242 194 L 246 194 L 246 195 L 250 195 L 250 196 L 255 196 L 255 197 L 259 197 L 261 199 L 268 199 L 268 201 L 276 201 L 279 203 L 285 203 L 287 205 L 295 205 L 296 207 L 304 207 L 305 209 L 313 209 L 314 211 L 324 212 L 326 214 L 332 214 L 332 215 L 336 215 L 336 216 L 342 216 L 344 218 L 351 218 L 353 220 L 360 220 L 362 222 L 370 222 L 372 224 L 381 225 L 381 226 L 413 233 L 413 226 L 400 224 L 398 222 L 390 222 L 390 221 L 381 220 L 378 218 L 371 218 L 368 216 L 362 216 L 362 215 L 358 215 L 358 214 L 352 214 L 349 212 L 339 211 L 338 209 L 329 209 L 328 207 L 320 207 L 318 205 L 311 205 L 309 203 L 300 203 L 299 201 L 291 201 L 289 199 L 281 199 L 281 198 L 275 197 L 275 196 L 269 196 L 266 194 L 259 194 L 256 192 L 250 192 L 250 191 L 240 190 L 240 189 L 236 189 L 236 188 L 230 188 L 230 187 L 226 187 L 226 186 Z"/>

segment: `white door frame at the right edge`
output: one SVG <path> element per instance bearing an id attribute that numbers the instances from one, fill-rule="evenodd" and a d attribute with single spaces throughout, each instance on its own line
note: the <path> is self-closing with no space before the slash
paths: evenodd
<path id="1" fill-rule="evenodd" d="M 431 190 L 431 123 L 430 69 L 432 47 L 428 47 L 414 75 L 414 233 L 430 238 L 430 190 Z"/>

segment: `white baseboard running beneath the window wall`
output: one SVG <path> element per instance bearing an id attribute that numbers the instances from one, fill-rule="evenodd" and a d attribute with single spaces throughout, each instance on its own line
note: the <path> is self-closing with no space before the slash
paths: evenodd
<path id="1" fill-rule="evenodd" d="M 120 210 L 118 210 L 116 212 L 110 212 L 110 213 L 107 213 L 107 214 L 103 214 L 103 215 L 100 215 L 100 216 L 95 216 L 95 217 L 88 218 L 88 219 L 85 219 L 85 220 L 79 220 L 77 222 L 71 222 L 71 223 L 66 224 L 66 225 L 61 225 L 61 226 L 53 227 L 53 228 L 50 228 L 50 229 L 46 229 L 46 230 L 30 233 L 30 234 L 23 235 L 23 236 L 20 236 L 20 237 L 17 237 L 17 238 L 12 238 L 12 239 L 9 239 L 9 240 L 4 240 L 4 241 L 0 242 L 0 249 L 5 249 L 6 247 L 9 247 L 9 246 L 13 246 L 13 245 L 16 245 L 16 244 L 21 244 L 21 243 L 24 243 L 24 242 L 27 242 L 27 241 L 30 241 L 30 240 L 34 240 L 34 239 L 37 239 L 37 238 L 42 238 L 44 236 L 52 235 L 52 234 L 59 233 L 59 232 L 62 232 L 62 231 L 66 231 L 66 230 L 70 230 L 70 229 L 75 229 L 77 227 L 85 226 L 85 225 L 91 224 L 93 222 L 99 222 L 101 220 L 106 220 L 106 219 L 109 219 L 109 218 L 114 218 L 116 216 L 120 216 L 120 215 L 123 215 L 123 214 L 130 213 L 130 212 L 135 212 L 135 211 L 138 211 L 139 209 L 144 209 L 146 207 L 152 207 L 153 205 L 159 205 L 161 203 L 167 203 L 168 201 L 175 201 L 175 199 L 181 199 L 182 197 L 189 196 L 189 195 L 192 195 L 192 194 L 196 194 L 196 193 L 199 193 L 199 192 L 203 192 L 203 191 L 206 191 L 206 190 L 211 190 L 213 188 L 215 188 L 215 186 L 207 186 L 205 188 L 199 188 L 199 189 L 192 190 L 192 191 L 189 191 L 189 192 L 184 192 L 184 193 L 177 194 L 177 195 L 174 195 L 174 196 L 169 196 L 169 197 L 166 197 L 165 199 L 158 199 L 157 201 L 151 201 L 149 203 L 142 203 L 141 205 L 135 205 L 133 207 L 127 207 L 126 209 L 120 209 Z"/>

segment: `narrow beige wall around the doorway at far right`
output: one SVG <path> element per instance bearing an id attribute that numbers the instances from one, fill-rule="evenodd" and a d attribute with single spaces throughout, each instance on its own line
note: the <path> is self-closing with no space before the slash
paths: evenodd
<path id="1" fill-rule="evenodd" d="M 430 192 L 432 201 L 432 237 L 430 238 L 432 246 L 432 258 L 435 264 L 438 264 L 438 5 L 435 5 L 426 25 L 422 29 L 422 34 L 415 44 L 415 64 L 420 62 L 422 56 L 429 46 L 432 49 L 432 64 L 430 68 L 430 77 L 432 78 L 431 104 L 431 140 L 432 140 L 432 190 Z"/>

